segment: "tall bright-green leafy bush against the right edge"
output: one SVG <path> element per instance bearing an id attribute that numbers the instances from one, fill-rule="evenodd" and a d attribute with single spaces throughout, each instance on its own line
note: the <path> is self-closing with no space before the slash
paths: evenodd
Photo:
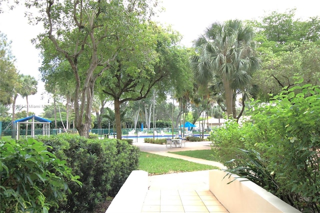
<path id="1" fill-rule="evenodd" d="M 255 148 L 269 161 L 278 195 L 313 212 L 320 210 L 319 114 L 320 88 L 310 84 L 283 90 L 252 113 L 261 138 Z"/>

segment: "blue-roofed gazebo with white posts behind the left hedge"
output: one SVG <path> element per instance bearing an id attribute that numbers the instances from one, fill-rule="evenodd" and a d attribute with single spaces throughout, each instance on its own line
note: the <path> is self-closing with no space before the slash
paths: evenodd
<path id="1" fill-rule="evenodd" d="M 51 120 L 35 115 L 17 119 L 14 121 L 16 129 L 16 139 L 19 139 L 21 123 L 31 124 L 31 137 L 34 137 L 34 124 L 42 123 L 42 135 L 50 135 L 50 122 Z"/>

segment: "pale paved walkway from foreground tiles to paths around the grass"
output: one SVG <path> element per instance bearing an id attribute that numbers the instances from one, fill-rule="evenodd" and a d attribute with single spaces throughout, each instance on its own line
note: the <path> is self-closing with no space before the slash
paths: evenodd
<path id="1" fill-rule="evenodd" d="M 188 157 L 168 151 L 210 149 L 209 141 L 186 142 L 185 147 L 165 147 L 164 144 L 134 142 L 141 151 L 175 157 L 196 163 L 224 166 L 219 162 Z M 148 176 L 149 190 L 141 212 L 227 212 L 209 191 L 208 170 Z"/>

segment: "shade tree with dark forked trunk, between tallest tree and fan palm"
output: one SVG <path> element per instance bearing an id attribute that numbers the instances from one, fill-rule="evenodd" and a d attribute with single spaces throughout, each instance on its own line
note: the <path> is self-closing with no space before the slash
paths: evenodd
<path id="1" fill-rule="evenodd" d="M 146 98 L 152 88 L 156 89 L 157 95 L 164 95 L 172 87 L 170 80 L 182 76 L 184 70 L 179 62 L 182 50 L 175 45 L 180 40 L 178 33 L 149 22 L 134 34 L 140 37 L 135 48 L 123 48 L 100 80 L 101 91 L 114 100 L 119 139 L 121 104 Z"/>

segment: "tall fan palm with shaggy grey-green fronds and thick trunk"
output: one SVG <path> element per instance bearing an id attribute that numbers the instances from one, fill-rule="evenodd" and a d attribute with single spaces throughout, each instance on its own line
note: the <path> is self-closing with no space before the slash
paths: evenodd
<path id="1" fill-rule="evenodd" d="M 261 66 L 261 60 L 254 55 L 252 38 L 251 28 L 240 20 L 228 20 L 212 23 L 193 42 L 197 52 L 190 58 L 194 78 L 205 85 L 218 78 L 223 86 L 227 117 L 236 118 L 235 94 L 250 84 L 252 73 Z"/>

